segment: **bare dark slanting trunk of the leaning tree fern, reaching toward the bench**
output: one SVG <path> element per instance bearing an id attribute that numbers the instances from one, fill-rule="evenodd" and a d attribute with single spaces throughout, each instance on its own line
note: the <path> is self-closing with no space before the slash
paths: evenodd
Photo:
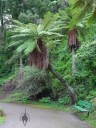
<path id="1" fill-rule="evenodd" d="M 66 87 L 66 89 L 68 90 L 69 92 L 69 95 L 71 97 L 71 100 L 72 100 L 72 103 L 71 104 L 75 104 L 76 101 L 77 101 L 77 95 L 76 93 L 74 92 L 73 88 L 68 84 L 68 82 L 66 80 L 64 80 L 57 72 L 54 71 L 53 67 L 50 65 L 49 66 L 49 70 L 53 73 L 53 75 L 58 79 L 60 80 L 64 86 Z"/>

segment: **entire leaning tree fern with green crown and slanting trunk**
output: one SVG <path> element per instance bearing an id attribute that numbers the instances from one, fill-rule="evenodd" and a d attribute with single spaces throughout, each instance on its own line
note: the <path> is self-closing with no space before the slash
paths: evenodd
<path id="1" fill-rule="evenodd" d="M 58 14 L 48 13 L 39 25 L 32 23 L 25 25 L 19 21 L 14 21 L 17 25 L 14 25 L 14 29 L 11 30 L 13 35 L 10 46 L 17 47 L 19 53 L 29 55 L 30 66 L 35 65 L 38 68 L 50 70 L 64 84 L 69 91 L 72 103 L 75 103 L 77 96 L 73 88 L 54 71 L 50 64 L 48 46 L 50 43 L 60 41 L 63 36 L 59 33 L 63 25 L 58 18 Z"/>

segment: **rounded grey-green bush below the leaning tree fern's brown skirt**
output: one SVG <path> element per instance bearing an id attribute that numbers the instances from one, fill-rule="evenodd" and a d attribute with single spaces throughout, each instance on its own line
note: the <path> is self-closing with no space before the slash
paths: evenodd
<path id="1" fill-rule="evenodd" d="M 30 96 L 36 96 L 44 89 L 50 88 L 50 79 L 45 70 L 36 67 L 25 67 L 24 77 L 19 82 L 21 91 Z"/>

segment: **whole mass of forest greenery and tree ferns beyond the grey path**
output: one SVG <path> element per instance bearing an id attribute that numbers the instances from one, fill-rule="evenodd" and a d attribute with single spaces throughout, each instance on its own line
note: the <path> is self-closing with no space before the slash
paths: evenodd
<path id="1" fill-rule="evenodd" d="M 80 118 L 95 128 L 95 0 L 1 0 L 0 19 L 2 101 L 70 110 L 86 100 Z"/>

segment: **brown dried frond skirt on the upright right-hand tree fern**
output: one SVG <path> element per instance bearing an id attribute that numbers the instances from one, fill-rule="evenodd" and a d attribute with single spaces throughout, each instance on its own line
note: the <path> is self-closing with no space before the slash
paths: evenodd
<path id="1" fill-rule="evenodd" d="M 72 49 L 77 50 L 80 46 L 80 42 L 77 39 L 77 30 L 73 29 L 69 32 L 68 36 L 68 44 L 69 49 L 72 51 Z"/>

